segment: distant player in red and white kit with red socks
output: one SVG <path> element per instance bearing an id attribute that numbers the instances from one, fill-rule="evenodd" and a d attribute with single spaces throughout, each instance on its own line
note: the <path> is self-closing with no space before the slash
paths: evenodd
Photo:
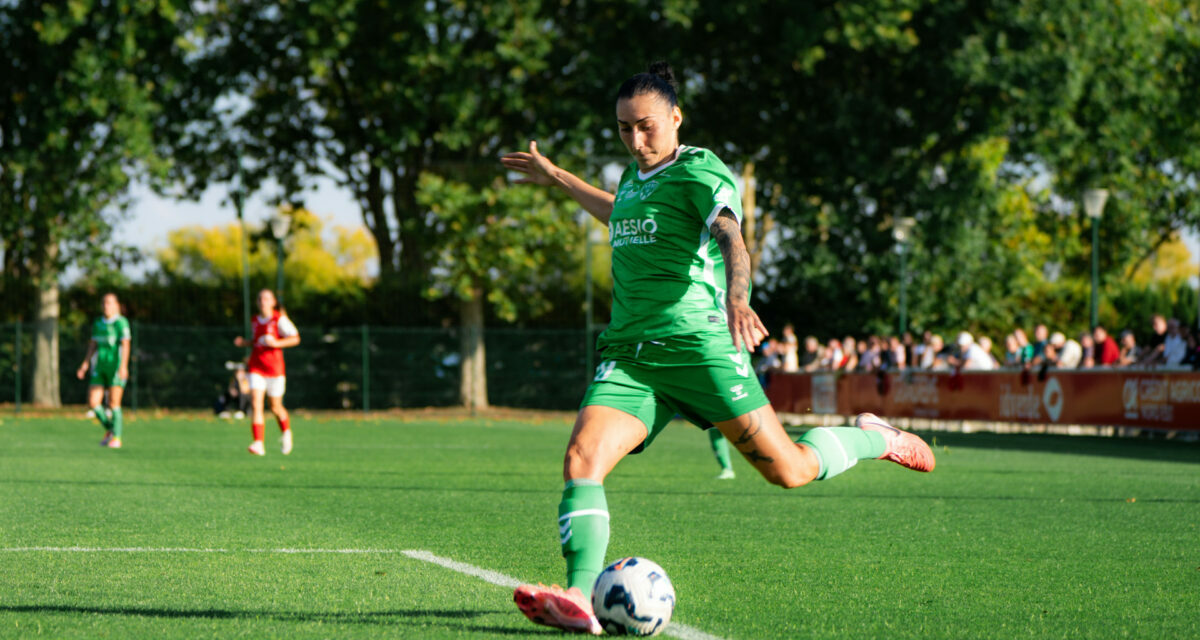
<path id="1" fill-rule="evenodd" d="M 292 453 L 292 427 L 288 424 L 288 409 L 283 408 L 283 391 L 287 389 L 287 377 L 283 369 L 283 351 L 300 343 L 300 333 L 292 324 L 282 309 L 276 309 L 275 293 L 271 289 L 258 292 L 258 317 L 252 323 L 253 336 L 250 342 L 245 337 L 234 339 L 239 347 L 250 349 L 250 406 L 251 432 L 254 441 L 246 450 L 254 455 L 266 455 L 263 447 L 263 435 L 266 430 L 263 418 L 263 397 L 271 399 L 271 413 L 280 423 L 280 450 L 283 455 Z"/>

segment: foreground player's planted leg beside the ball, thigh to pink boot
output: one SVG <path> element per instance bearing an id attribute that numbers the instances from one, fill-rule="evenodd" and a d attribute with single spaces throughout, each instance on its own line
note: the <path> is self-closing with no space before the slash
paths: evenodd
<path id="1" fill-rule="evenodd" d="M 559 629 L 600 634 L 590 597 L 608 549 L 608 504 L 602 483 L 646 435 L 646 424 L 620 409 L 593 405 L 580 411 L 563 459 L 565 486 L 558 506 L 566 588 L 557 585 L 517 587 L 512 599 L 529 620 Z"/>

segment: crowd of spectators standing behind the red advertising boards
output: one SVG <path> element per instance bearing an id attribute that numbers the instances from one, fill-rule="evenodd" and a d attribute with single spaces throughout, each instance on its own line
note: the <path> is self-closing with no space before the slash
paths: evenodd
<path id="1" fill-rule="evenodd" d="M 974 336 L 968 331 L 959 331 L 950 343 L 932 331 L 925 331 L 920 341 L 906 333 L 902 336 L 847 335 L 824 343 L 810 335 L 802 343 L 794 327 L 787 324 L 780 337 L 772 337 L 761 347 L 758 371 L 1200 369 L 1195 331 L 1176 318 L 1166 319 L 1159 315 L 1152 316 L 1150 324 L 1150 337 L 1145 342 L 1139 342 L 1129 329 L 1114 337 L 1104 327 L 1097 327 L 1067 337 L 1062 331 L 1051 333 L 1045 324 L 1038 324 L 1033 328 L 1032 341 L 1024 329 L 1015 328 L 1000 346 L 988 336 Z"/>

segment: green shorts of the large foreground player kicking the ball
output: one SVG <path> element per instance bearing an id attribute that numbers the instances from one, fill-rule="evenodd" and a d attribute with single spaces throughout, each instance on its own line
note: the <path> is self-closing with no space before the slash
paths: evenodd
<path id="1" fill-rule="evenodd" d="M 636 417 L 649 447 L 676 414 L 701 429 L 768 403 L 730 334 L 680 335 L 605 348 L 581 408 L 598 405 Z"/>

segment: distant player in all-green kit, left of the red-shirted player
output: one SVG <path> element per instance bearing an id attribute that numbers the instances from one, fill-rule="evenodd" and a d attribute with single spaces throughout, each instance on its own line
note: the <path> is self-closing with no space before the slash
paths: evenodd
<path id="1" fill-rule="evenodd" d="M 130 379 L 130 321 L 121 315 L 121 303 L 115 293 L 106 293 L 101 303 L 103 316 L 91 323 L 91 340 L 88 342 L 88 355 L 76 371 L 76 377 L 83 379 L 91 370 L 88 381 L 88 408 L 100 419 L 104 427 L 104 439 L 101 447 L 121 448 L 121 432 L 125 418 L 121 415 L 121 396 L 125 394 L 125 382 Z M 108 408 L 101 406 L 108 391 Z"/>

